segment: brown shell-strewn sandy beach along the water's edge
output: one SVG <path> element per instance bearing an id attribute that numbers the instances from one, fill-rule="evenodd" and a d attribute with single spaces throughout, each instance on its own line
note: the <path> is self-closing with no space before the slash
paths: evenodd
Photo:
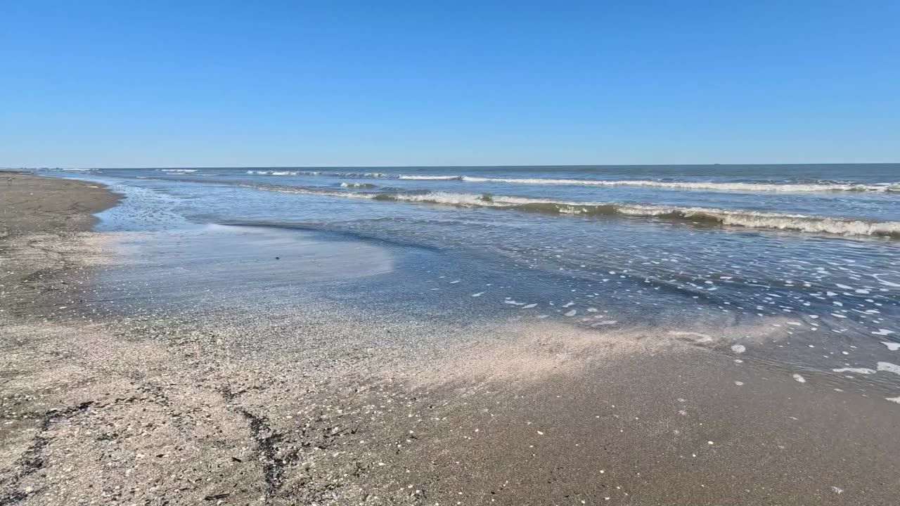
<path id="1" fill-rule="evenodd" d="M 117 197 L 8 177 L 0 504 L 900 497 L 889 372 L 860 383 L 652 329 L 431 329 L 313 308 L 94 314 L 92 279 L 115 259 L 86 230 Z M 452 344 L 410 344 L 421 332 Z"/>

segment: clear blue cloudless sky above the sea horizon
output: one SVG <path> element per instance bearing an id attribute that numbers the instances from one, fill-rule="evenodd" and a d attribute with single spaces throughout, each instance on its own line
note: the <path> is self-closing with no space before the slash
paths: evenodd
<path id="1" fill-rule="evenodd" d="M 900 1 L 4 2 L 0 166 L 900 161 Z"/>

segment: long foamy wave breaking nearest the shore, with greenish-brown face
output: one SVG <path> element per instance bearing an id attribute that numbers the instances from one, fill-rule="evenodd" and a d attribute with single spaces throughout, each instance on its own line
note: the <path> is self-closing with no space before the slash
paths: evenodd
<path id="1" fill-rule="evenodd" d="M 457 207 L 492 208 L 519 212 L 580 216 L 630 216 L 691 223 L 725 225 L 760 230 L 793 230 L 842 236 L 869 236 L 900 239 L 900 221 L 867 221 L 851 218 L 758 212 L 709 207 L 680 207 L 644 203 L 594 203 L 542 200 L 491 194 L 447 192 L 384 193 L 341 192 L 289 186 L 244 185 L 260 190 L 289 194 L 316 194 L 374 201 L 431 203 Z"/>

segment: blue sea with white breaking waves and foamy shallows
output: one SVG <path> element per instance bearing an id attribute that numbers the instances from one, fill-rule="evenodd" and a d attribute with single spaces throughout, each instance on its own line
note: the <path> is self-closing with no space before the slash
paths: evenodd
<path id="1" fill-rule="evenodd" d="M 786 361 L 826 368 L 847 364 L 815 349 L 824 343 L 880 355 L 900 342 L 900 164 L 38 172 L 125 194 L 98 230 L 175 234 L 131 239 L 158 268 L 132 268 L 129 280 L 163 304 L 315 294 L 384 318 L 551 319 L 698 342 L 716 340 L 710 329 L 750 338 L 762 328 L 794 343 Z M 302 259 L 311 242 L 333 247 Z M 338 261 L 347 248 L 365 253 Z M 153 288 L 224 252 L 206 278 Z M 280 271 L 234 267 L 257 257 L 278 257 Z M 334 276 L 292 259 L 331 262 Z M 254 291 L 260 276 L 265 290 Z"/>

